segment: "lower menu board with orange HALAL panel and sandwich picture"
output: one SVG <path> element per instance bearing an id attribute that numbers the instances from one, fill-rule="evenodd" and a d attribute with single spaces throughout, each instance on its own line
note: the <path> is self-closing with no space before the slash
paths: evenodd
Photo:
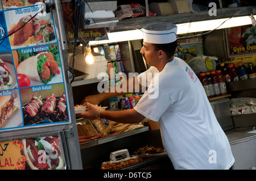
<path id="1" fill-rule="evenodd" d="M 66 169 L 60 137 L 30 137 L 0 142 L 0 170 Z"/>

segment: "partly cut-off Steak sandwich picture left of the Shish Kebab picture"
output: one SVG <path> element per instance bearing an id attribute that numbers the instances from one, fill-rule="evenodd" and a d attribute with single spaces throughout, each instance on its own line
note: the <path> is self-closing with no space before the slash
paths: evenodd
<path id="1" fill-rule="evenodd" d="M 0 129 L 22 127 L 19 90 L 0 91 Z"/>

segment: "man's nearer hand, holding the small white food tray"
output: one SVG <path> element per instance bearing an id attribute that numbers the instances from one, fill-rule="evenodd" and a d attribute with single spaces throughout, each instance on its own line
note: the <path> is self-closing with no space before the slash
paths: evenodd
<path id="1" fill-rule="evenodd" d="M 85 112 L 76 114 L 77 117 L 84 117 L 89 120 L 94 120 L 100 118 L 100 108 L 91 103 L 85 103 L 84 106 L 88 109 Z"/>

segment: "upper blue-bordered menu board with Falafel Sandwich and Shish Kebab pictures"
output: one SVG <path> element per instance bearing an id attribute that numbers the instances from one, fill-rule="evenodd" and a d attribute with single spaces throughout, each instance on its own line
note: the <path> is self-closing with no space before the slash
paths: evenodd
<path id="1" fill-rule="evenodd" d="M 58 33 L 46 3 L 1 0 L 0 131 L 69 123 Z"/>

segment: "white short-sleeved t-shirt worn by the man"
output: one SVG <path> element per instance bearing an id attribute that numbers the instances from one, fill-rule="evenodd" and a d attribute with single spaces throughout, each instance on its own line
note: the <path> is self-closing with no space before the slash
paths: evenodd
<path id="1" fill-rule="evenodd" d="M 150 71 L 154 68 L 144 73 Z M 163 145 L 175 169 L 229 169 L 233 165 L 228 138 L 204 88 L 180 58 L 154 74 L 134 109 L 159 121 Z"/>

